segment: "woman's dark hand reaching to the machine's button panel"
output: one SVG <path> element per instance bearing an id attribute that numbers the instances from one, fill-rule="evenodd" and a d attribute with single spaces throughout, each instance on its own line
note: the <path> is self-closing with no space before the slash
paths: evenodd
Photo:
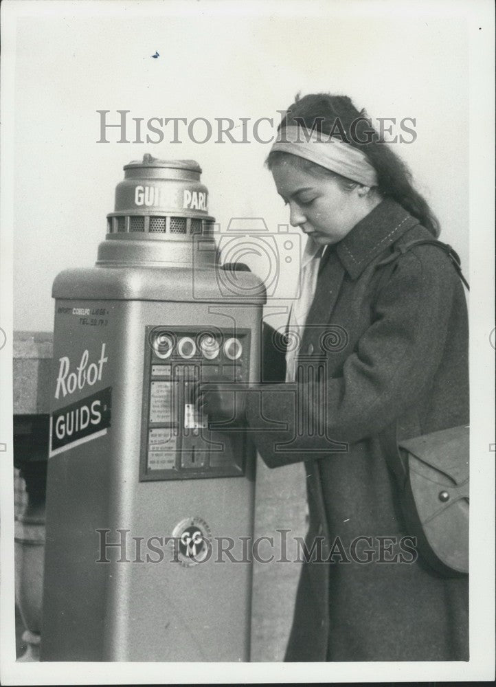
<path id="1" fill-rule="evenodd" d="M 194 403 L 210 420 L 245 419 L 247 385 L 220 379 L 198 383 L 194 388 Z"/>

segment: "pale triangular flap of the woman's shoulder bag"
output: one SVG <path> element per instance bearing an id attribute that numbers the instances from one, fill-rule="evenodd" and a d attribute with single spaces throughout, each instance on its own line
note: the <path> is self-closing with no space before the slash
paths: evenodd
<path id="1" fill-rule="evenodd" d="M 451 427 L 398 441 L 398 447 L 462 484 L 469 479 L 469 438 L 469 427 Z"/>

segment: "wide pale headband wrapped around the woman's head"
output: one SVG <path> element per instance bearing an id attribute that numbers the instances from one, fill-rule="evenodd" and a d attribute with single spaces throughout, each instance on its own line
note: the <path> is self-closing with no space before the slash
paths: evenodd
<path id="1" fill-rule="evenodd" d="M 271 148 L 272 152 L 291 153 L 315 162 L 364 186 L 376 186 L 376 170 L 365 153 L 340 139 L 301 126 L 282 128 Z"/>

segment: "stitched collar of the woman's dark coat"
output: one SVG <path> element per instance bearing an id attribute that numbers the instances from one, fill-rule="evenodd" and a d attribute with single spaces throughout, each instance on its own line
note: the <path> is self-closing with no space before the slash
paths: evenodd
<path id="1" fill-rule="evenodd" d="M 385 199 L 339 241 L 339 260 L 350 277 L 357 279 L 374 258 L 418 223 L 399 203 Z"/>

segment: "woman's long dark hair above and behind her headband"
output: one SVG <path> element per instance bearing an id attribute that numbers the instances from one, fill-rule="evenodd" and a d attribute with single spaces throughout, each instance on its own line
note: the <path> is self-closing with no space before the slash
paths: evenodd
<path id="1" fill-rule="evenodd" d="M 412 185 L 412 174 L 406 164 L 385 143 L 370 123 L 365 110 L 357 110 L 346 95 L 312 93 L 303 98 L 298 96 L 291 104 L 279 125 L 302 126 L 308 131 L 314 129 L 324 135 L 335 135 L 367 155 L 377 172 L 377 190 L 385 198 L 400 203 L 434 236 L 440 226 L 427 201 Z M 269 169 L 280 153 L 270 153 L 267 158 Z"/>

